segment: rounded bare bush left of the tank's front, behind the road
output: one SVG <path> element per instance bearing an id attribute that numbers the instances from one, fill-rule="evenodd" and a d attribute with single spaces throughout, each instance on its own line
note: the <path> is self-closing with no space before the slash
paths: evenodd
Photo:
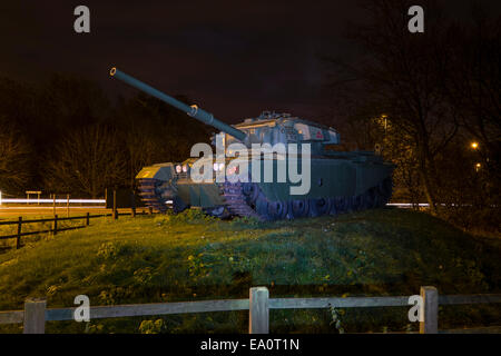
<path id="1" fill-rule="evenodd" d="M 102 125 L 69 134 L 48 160 L 46 186 L 57 192 L 97 198 L 127 184 L 127 156 L 115 130 Z"/>

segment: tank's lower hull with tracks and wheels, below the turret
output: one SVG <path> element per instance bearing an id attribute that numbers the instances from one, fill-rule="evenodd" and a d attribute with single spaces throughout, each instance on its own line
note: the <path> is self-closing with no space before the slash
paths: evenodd
<path id="1" fill-rule="evenodd" d="M 191 207 L 220 217 L 234 215 L 263 220 L 370 209 L 384 206 L 391 198 L 394 166 L 370 152 L 335 152 L 312 158 L 308 189 L 304 195 L 293 195 L 291 188 L 306 185 L 305 181 L 279 182 L 278 160 L 250 161 L 249 172 L 256 164 L 261 166 L 259 179 L 250 176 L 248 182 L 215 179 L 195 182 L 188 172 L 176 172 L 174 164 L 145 167 L 137 179 L 141 195 L 149 199 L 145 202 L 159 211 L 171 208 L 177 212 Z M 265 181 L 265 167 L 273 167 L 271 181 Z M 288 171 L 286 162 L 281 167 Z M 154 190 L 141 188 L 153 186 Z"/>

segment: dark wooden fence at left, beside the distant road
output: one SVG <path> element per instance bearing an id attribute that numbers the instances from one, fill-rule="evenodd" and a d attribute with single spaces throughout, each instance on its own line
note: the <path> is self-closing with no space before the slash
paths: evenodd
<path id="1" fill-rule="evenodd" d="M 87 215 L 85 215 L 85 216 L 72 216 L 72 217 L 58 217 L 57 215 L 55 215 L 52 218 L 42 218 L 42 219 L 22 219 L 22 217 L 19 217 L 18 220 L 13 220 L 13 221 L 0 221 L 0 226 L 1 225 L 17 225 L 18 226 L 17 234 L 0 236 L 0 240 L 16 238 L 16 248 L 20 248 L 22 236 L 50 234 L 50 233 L 52 233 L 53 235 L 57 235 L 59 231 L 81 229 L 84 227 L 89 226 L 90 219 L 92 219 L 92 218 L 112 216 L 115 219 L 117 219 L 119 215 L 130 215 L 130 216 L 135 217 L 136 215 L 146 215 L 146 214 L 153 214 L 153 210 L 149 209 L 149 212 L 146 212 L 145 210 L 143 210 L 143 212 L 136 212 L 136 209 L 132 208 L 130 214 L 128 214 L 128 212 L 118 212 L 118 210 L 115 209 L 114 212 L 111 212 L 111 214 L 90 215 L 89 212 L 87 212 Z M 82 225 L 70 226 L 70 227 L 59 227 L 58 226 L 58 222 L 66 221 L 66 220 L 82 220 Z M 45 229 L 45 230 L 22 233 L 22 225 L 36 224 L 36 222 L 52 222 L 52 228 Z"/>

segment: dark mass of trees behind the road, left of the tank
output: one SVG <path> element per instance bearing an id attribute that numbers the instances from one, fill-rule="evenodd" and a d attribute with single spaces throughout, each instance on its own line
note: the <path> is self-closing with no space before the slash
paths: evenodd
<path id="1" fill-rule="evenodd" d="M 10 152 L 1 158 L 10 171 L 0 189 L 94 197 L 106 187 L 134 187 L 145 166 L 185 160 L 213 130 L 141 92 L 110 106 L 96 82 L 61 73 L 40 86 L 0 77 L 0 129 Z M 20 156 L 12 162 L 13 152 Z"/>

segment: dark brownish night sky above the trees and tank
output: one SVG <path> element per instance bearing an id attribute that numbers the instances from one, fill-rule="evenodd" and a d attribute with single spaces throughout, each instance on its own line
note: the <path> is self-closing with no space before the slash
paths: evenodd
<path id="1" fill-rule="evenodd" d="M 135 93 L 108 77 L 116 66 L 227 122 L 266 109 L 312 120 L 328 115 L 335 98 L 320 57 L 354 56 L 344 32 L 347 22 L 363 21 L 356 1 L 6 2 L 0 75 L 40 82 L 71 72 L 98 81 L 111 98 Z M 469 8 L 441 2 L 456 17 Z M 500 1 L 485 2 L 501 11 Z M 90 9 L 90 33 L 73 31 L 79 4 Z"/>

